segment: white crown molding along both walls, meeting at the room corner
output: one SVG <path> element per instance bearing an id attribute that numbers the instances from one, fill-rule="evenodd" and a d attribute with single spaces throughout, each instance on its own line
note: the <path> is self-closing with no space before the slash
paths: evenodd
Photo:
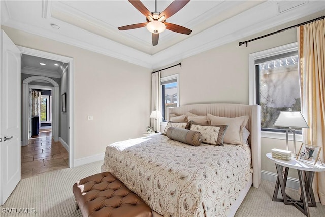
<path id="1" fill-rule="evenodd" d="M 49 14 L 49 7 L 53 4 L 50 4 L 50 1 L 47 2 L 47 0 L 43 1 L 44 4 L 47 4 L 47 7 L 43 7 L 43 12 Z M 279 13 L 276 1 L 266 1 L 253 7 L 249 11 L 244 11 L 210 27 L 204 32 L 186 38 L 184 41 L 174 44 L 165 50 L 155 53 L 154 55 L 150 55 L 102 36 L 95 35 L 81 28 L 77 28 L 73 35 L 61 35 L 56 33 L 55 30 L 50 27 L 39 28 L 19 23 L 10 19 L 6 2 L 2 6 L 2 12 L 6 12 L 4 16 L 2 15 L 1 22 L 3 25 L 127 61 L 128 63 L 149 69 L 164 67 L 168 64 L 175 63 L 181 59 L 196 55 L 223 44 L 234 42 L 244 37 L 325 10 L 325 4 L 323 4 L 322 1 L 307 1 L 306 4 Z M 45 8 L 47 9 L 45 10 Z M 48 21 L 53 22 L 53 20 L 59 22 L 59 20 L 48 18 Z M 60 23 L 58 24 L 60 25 Z M 62 33 L 65 33 L 64 30 Z"/>

